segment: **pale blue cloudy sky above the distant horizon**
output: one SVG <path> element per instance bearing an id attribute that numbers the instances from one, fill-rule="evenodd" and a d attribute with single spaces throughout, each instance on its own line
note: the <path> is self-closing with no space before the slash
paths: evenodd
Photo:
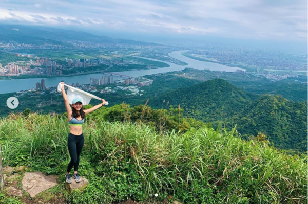
<path id="1" fill-rule="evenodd" d="M 0 0 L 0 24 L 104 33 L 307 40 L 307 0 Z"/>

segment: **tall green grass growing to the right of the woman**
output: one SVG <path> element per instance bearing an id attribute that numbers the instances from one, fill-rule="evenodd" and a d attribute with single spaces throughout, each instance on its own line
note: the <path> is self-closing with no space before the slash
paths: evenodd
<path id="1" fill-rule="evenodd" d="M 307 160 L 265 143 L 243 141 L 236 131 L 208 128 L 158 134 L 137 124 L 102 123 L 87 143 L 101 151 L 108 142 L 131 155 L 148 193 L 171 193 L 236 203 L 306 203 Z M 207 199 L 204 198 L 204 199 Z M 212 200 L 212 201 L 213 201 Z"/>

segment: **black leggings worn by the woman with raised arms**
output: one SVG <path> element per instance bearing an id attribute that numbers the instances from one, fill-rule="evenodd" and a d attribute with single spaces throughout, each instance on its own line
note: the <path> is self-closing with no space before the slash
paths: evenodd
<path id="1" fill-rule="evenodd" d="M 78 170 L 79 156 L 84 142 L 85 140 L 83 137 L 83 133 L 81 135 L 74 135 L 72 133 L 68 134 L 67 148 L 71 157 L 71 161 L 68 163 L 67 172 L 70 172 L 73 167 L 74 171 Z"/>

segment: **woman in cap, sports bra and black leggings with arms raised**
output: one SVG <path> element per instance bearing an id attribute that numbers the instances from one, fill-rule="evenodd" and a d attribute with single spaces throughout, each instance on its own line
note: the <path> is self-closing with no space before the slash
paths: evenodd
<path id="1" fill-rule="evenodd" d="M 64 82 L 61 82 L 64 84 Z M 72 179 L 70 176 L 70 171 L 74 167 L 74 174 L 73 178 L 75 178 L 76 182 L 80 182 L 81 178 L 78 175 L 78 165 L 79 165 L 79 156 L 82 150 L 82 147 L 84 145 L 84 136 L 82 133 L 82 124 L 84 122 L 85 115 L 87 115 L 89 112 L 92 112 L 93 110 L 96 110 L 100 107 L 102 107 L 106 101 L 102 99 L 102 103 L 99 105 L 95 105 L 87 110 L 84 110 L 82 107 L 82 100 L 79 98 L 73 99 L 72 107 L 69 105 L 64 85 L 62 85 L 61 93 L 64 99 L 65 108 L 68 116 L 68 121 L 70 125 L 70 133 L 68 134 L 67 139 L 67 147 L 69 151 L 69 155 L 71 158 L 71 161 L 69 162 L 67 166 L 67 172 L 65 175 L 66 182 L 72 183 Z"/>

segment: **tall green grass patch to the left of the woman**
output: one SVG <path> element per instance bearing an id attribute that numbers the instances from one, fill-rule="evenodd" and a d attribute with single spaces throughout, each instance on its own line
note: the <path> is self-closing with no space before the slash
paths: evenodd
<path id="1" fill-rule="evenodd" d="M 1 120 L 0 141 L 6 144 L 3 148 L 4 165 L 26 164 L 31 158 L 45 164 L 66 160 L 69 129 L 64 125 L 65 120 L 65 117 L 37 114 L 28 117 L 10 115 Z"/>

